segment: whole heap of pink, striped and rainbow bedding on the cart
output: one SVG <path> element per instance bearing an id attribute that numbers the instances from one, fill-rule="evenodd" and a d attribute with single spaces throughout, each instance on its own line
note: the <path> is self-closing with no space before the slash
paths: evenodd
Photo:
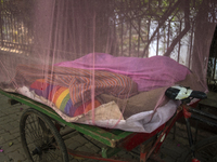
<path id="1" fill-rule="evenodd" d="M 169 57 L 91 53 L 54 66 L 18 65 L 4 90 L 16 87 L 67 122 L 150 133 L 168 121 L 179 104 L 165 97 L 166 89 L 180 84 L 199 90 L 193 78 Z"/>

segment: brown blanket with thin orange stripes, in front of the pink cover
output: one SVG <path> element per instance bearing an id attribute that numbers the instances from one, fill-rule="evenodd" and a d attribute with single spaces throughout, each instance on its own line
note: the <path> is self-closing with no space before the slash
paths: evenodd
<path id="1" fill-rule="evenodd" d="M 128 98 L 138 93 L 137 83 L 126 76 L 108 71 L 94 71 L 93 83 L 92 75 L 93 71 L 87 69 L 20 65 L 14 80 L 17 86 L 30 86 L 36 80 L 43 79 L 50 84 L 43 94 L 46 97 L 49 97 L 48 93 L 51 92 L 53 85 L 55 89 L 61 86 L 62 91 L 68 89 L 68 96 L 75 107 L 80 106 L 80 103 L 91 100 L 92 91 L 94 91 L 94 96 L 104 93 L 118 98 Z"/>

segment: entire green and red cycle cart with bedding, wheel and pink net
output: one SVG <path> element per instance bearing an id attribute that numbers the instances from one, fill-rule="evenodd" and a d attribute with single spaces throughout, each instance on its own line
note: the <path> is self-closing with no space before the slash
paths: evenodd
<path id="1" fill-rule="evenodd" d="M 0 6 L 0 92 L 31 107 L 20 123 L 30 161 L 68 161 L 68 153 L 132 161 L 114 154 L 139 145 L 146 161 L 181 117 L 193 146 L 188 119 L 201 120 L 192 107 L 208 92 L 215 0 L 3 0 Z M 107 148 L 97 156 L 66 148 L 64 136 L 75 131 Z"/>

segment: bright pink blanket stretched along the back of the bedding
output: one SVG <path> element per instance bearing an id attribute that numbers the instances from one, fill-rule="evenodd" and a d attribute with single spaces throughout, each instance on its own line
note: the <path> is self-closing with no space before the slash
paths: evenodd
<path id="1" fill-rule="evenodd" d="M 94 63 L 94 65 L 93 65 Z M 90 53 L 75 60 L 55 64 L 61 67 L 112 71 L 131 78 L 140 92 L 170 86 L 182 81 L 190 70 L 166 56 L 150 58 L 115 57 L 105 53 Z"/>

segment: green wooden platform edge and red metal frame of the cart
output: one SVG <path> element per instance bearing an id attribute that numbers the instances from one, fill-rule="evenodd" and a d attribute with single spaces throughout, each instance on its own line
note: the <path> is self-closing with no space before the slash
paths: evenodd
<path id="1" fill-rule="evenodd" d="M 184 118 L 187 121 L 187 131 L 189 136 L 189 144 L 190 147 L 193 145 L 192 133 L 190 129 L 189 118 L 193 117 L 197 120 L 201 120 L 201 117 L 196 114 L 192 114 L 190 111 L 194 111 L 192 107 L 195 107 L 197 103 L 194 103 L 189 107 L 184 102 L 177 108 L 176 113 L 167 121 L 165 124 L 157 127 L 152 133 L 136 133 L 136 132 L 125 132 L 120 130 L 110 130 L 99 126 L 86 125 L 86 124 L 78 124 L 78 123 L 69 123 L 63 120 L 52 108 L 35 102 L 28 97 L 25 97 L 17 93 L 9 93 L 0 90 L 0 93 L 5 95 L 7 97 L 14 99 L 18 103 L 25 104 L 37 111 L 48 116 L 50 119 L 55 121 L 56 130 L 60 131 L 60 123 L 65 124 L 74 129 L 75 131 L 79 132 L 80 134 L 85 134 L 90 138 L 93 138 L 106 147 L 102 148 L 101 154 L 76 151 L 67 148 L 68 154 L 79 158 L 87 158 L 87 159 L 94 159 L 94 160 L 103 160 L 103 161 L 113 161 L 113 162 L 132 162 L 135 160 L 125 160 L 123 158 L 113 158 L 119 150 L 124 149 L 126 151 L 131 151 L 137 146 L 140 146 L 140 162 L 145 162 L 149 158 L 162 161 L 157 156 L 155 156 L 162 144 L 164 143 L 166 136 L 170 132 L 171 127 L 176 123 L 177 120 L 180 118 Z M 196 110 L 200 113 L 200 110 Z M 203 113 L 203 112 L 201 112 Z M 217 117 L 206 113 L 208 118 L 213 118 L 217 120 Z M 201 120 L 205 122 L 203 119 Z M 207 121 L 207 124 L 210 124 Z M 217 126 L 216 123 L 212 123 L 213 125 Z M 194 154 L 194 150 L 192 150 Z M 192 161 L 196 161 L 195 158 Z"/>

